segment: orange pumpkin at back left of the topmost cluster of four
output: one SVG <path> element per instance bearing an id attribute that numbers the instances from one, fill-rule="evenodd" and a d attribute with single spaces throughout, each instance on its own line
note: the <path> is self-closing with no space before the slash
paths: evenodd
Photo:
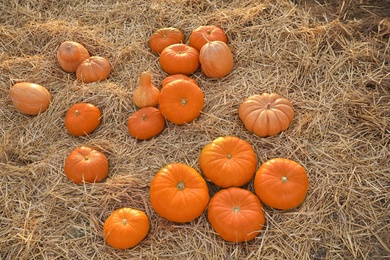
<path id="1" fill-rule="evenodd" d="M 161 53 L 166 47 L 184 42 L 183 33 L 173 27 L 161 28 L 154 32 L 149 39 L 149 46 L 152 51 Z"/>

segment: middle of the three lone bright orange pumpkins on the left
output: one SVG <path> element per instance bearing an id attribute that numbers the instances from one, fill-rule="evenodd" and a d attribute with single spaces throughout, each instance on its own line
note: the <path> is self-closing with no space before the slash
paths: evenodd
<path id="1" fill-rule="evenodd" d="M 99 151 L 80 146 L 66 158 L 64 171 L 66 177 L 76 184 L 81 184 L 83 181 L 101 182 L 108 173 L 108 159 Z"/>

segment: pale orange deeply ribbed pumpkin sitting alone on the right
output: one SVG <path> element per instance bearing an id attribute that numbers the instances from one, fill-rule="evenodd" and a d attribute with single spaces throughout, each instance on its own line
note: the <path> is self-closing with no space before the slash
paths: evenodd
<path id="1" fill-rule="evenodd" d="M 248 97 L 241 103 L 238 113 L 245 128 L 260 137 L 285 131 L 294 118 L 290 101 L 276 93 Z"/>

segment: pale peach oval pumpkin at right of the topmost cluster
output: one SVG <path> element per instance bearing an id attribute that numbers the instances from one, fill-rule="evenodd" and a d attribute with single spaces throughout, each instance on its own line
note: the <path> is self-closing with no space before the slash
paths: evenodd
<path id="1" fill-rule="evenodd" d="M 209 78 L 222 78 L 233 69 L 233 54 L 222 41 L 206 43 L 199 54 L 202 72 Z"/>

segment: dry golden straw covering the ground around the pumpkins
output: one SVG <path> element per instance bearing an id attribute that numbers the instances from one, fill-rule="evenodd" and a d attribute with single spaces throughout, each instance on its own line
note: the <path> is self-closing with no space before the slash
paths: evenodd
<path id="1" fill-rule="evenodd" d="M 378 3 L 380 2 L 380 3 Z M 381 5 L 381 6 L 378 6 Z M 7 0 L 0 3 L 0 259 L 382 259 L 390 256 L 390 20 L 388 1 L 287 0 Z M 166 74 L 147 43 L 161 27 L 185 34 L 214 24 L 228 34 L 235 66 L 220 80 L 193 77 L 205 94 L 194 122 L 168 123 L 136 141 L 126 120 L 142 71 L 160 86 Z M 83 84 L 62 71 L 65 40 L 104 56 L 112 74 Z M 53 95 L 35 117 L 13 107 L 8 91 L 30 81 Z M 296 115 L 275 137 L 247 132 L 238 106 L 277 92 Z M 103 112 L 88 137 L 64 128 L 66 110 L 91 102 Z M 203 214 L 188 224 L 159 217 L 149 203 L 154 174 L 171 162 L 199 170 L 199 152 L 218 136 L 253 145 L 258 164 L 285 157 L 301 163 L 310 187 L 298 208 L 265 207 L 255 240 L 222 241 Z M 108 178 L 74 185 L 64 159 L 79 145 L 104 152 Z M 209 185 L 211 195 L 218 189 Z M 249 183 L 245 188 L 253 191 Z M 148 236 L 133 249 L 105 244 L 103 222 L 119 207 L 146 212 Z"/>

